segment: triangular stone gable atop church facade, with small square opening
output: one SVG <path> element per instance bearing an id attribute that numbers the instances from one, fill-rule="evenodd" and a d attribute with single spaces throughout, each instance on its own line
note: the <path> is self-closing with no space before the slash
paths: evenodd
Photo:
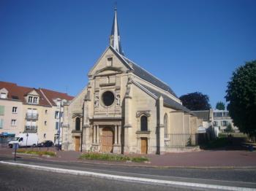
<path id="1" fill-rule="evenodd" d="M 113 66 L 107 65 L 108 58 L 113 58 Z M 107 70 L 122 72 L 122 71 L 132 70 L 132 68 L 124 60 L 124 58 L 122 58 L 121 55 L 119 55 L 118 52 L 116 52 L 116 50 L 113 49 L 113 47 L 109 46 L 103 52 L 103 54 L 101 55 L 97 63 L 95 63 L 94 66 L 91 68 L 88 75 L 89 77 L 94 77 L 95 74 L 99 74 L 100 72 L 103 72 L 103 71 L 106 73 Z"/>

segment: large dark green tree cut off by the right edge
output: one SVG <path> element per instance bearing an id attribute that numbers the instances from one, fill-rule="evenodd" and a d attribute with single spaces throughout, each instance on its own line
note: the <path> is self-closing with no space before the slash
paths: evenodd
<path id="1" fill-rule="evenodd" d="M 241 132 L 256 136 L 256 61 L 246 62 L 233 72 L 226 93 L 234 125 Z"/>

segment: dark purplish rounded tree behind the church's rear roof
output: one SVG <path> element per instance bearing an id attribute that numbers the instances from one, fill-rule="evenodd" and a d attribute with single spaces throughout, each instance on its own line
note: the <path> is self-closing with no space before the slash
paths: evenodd
<path id="1" fill-rule="evenodd" d="M 203 95 L 203 93 L 194 92 L 181 95 L 180 100 L 187 109 L 192 111 L 208 110 L 211 108 L 208 95 Z"/>

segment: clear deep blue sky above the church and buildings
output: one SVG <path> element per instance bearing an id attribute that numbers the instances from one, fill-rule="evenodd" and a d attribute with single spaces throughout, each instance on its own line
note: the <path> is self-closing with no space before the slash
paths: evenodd
<path id="1" fill-rule="evenodd" d="M 114 1 L 1 0 L 0 80 L 77 95 L 108 47 Z M 118 1 L 124 54 L 178 96 L 225 101 L 256 59 L 256 1 Z"/>

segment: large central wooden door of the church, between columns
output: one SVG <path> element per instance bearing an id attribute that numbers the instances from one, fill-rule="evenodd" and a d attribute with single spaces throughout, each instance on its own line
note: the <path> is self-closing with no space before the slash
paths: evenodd
<path id="1" fill-rule="evenodd" d="M 101 146 L 102 152 L 113 151 L 113 131 L 110 128 L 102 129 Z"/>

